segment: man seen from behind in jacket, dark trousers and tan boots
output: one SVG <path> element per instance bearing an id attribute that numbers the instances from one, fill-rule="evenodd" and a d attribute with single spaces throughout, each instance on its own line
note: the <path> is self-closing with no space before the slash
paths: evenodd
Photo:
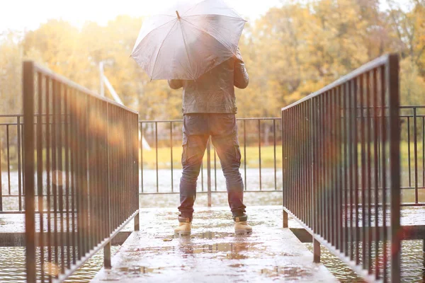
<path id="1" fill-rule="evenodd" d="M 169 80 L 173 89 L 183 87 L 183 173 L 180 180 L 179 235 L 189 235 L 200 173 L 211 137 L 226 179 L 227 198 L 237 234 L 251 233 L 244 205 L 244 183 L 239 167 L 241 151 L 237 134 L 234 86 L 246 88 L 249 76 L 239 48 L 237 54 L 200 76 L 196 81 Z"/>

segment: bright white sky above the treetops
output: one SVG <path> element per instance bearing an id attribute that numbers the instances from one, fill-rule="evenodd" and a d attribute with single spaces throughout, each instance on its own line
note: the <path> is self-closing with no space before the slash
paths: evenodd
<path id="1" fill-rule="evenodd" d="M 118 15 L 149 16 L 176 0 L 0 0 L 0 32 L 36 29 L 50 18 L 81 27 L 85 21 L 106 24 Z M 242 16 L 259 18 L 280 0 L 227 0 Z"/>

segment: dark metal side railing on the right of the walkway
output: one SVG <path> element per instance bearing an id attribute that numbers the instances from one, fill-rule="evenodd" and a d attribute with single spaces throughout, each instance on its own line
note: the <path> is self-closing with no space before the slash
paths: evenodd
<path id="1" fill-rule="evenodd" d="M 283 225 L 368 282 L 400 282 L 398 74 L 383 56 L 282 109 Z"/>

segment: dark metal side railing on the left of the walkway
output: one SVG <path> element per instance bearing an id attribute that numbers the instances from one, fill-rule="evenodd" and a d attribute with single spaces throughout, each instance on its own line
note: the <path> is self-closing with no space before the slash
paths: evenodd
<path id="1" fill-rule="evenodd" d="M 23 96 L 27 281 L 62 282 L 102 248 L 110 267 L 111 238 L 138 229 L 137 112 L 33 62 Z"/>

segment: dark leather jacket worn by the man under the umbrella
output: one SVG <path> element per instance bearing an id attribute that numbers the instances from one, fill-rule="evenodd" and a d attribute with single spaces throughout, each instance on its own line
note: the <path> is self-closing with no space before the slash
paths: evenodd
<path id="1" fill-rule="evenodd" d="M 234 86 L 246 88 L 249 83 L 245 64 L 233 57 L 200 76 L 196 81 L 169 80 L 173 89 L 183 87 L 183 115 L 188 113 L 236 114 Z"/>

